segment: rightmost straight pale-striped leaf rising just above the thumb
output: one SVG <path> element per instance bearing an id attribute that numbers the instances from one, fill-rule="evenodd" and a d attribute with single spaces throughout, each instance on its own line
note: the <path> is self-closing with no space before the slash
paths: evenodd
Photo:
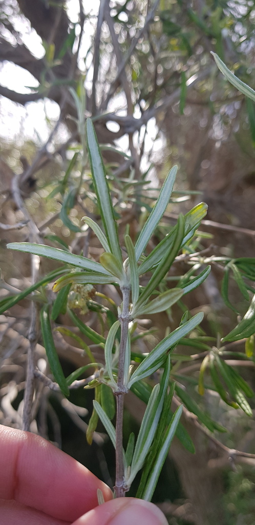
<path id="1" fill-rule="evenodd" d="M 157 457 L 155 459 L 151 475 L 149 476 L 146 487 L 143 491 L 142 497 L 145 501 L 151 501 L 152 499 L 154 490 L 156 488 L 157 480 L 160 477 L 162 467 L 165 463 L 165 459 L 168 454 L 170 445 L 176 433 L 176 429 L 179 423 L 180 416 L 182 415 L 182 411 L 183 406 L 179 406 L 173 415 L 171 423 L 169 423 L 167 427 L 166 434 L 163 438 L 161 448 L 158 451 Z"/>

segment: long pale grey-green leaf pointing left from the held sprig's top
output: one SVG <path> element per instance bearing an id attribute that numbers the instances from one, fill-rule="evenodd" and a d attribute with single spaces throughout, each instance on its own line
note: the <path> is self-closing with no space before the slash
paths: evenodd
<path id="1" fill-rule="evenodd" d="M 61 261 L 64 264 L 70 264 L 72 266 L 78 266 L 83 270 L 95 271 L 97 274 L 109 276 L 109 272 L 103 268 L 99 262 L 94 262 L 87 257 L 81 257 L 79 255 L 68 253 L 66 250 L 60 250 L 59 248 L 52 248 L 44 244 L 32 244 L 32 243 L 9 243 L 7 248 L 12 250 L 24 251 L 28 254 L 39 255 L 40 257 L 47 257 L 48 259 L 54 259 Z"/>

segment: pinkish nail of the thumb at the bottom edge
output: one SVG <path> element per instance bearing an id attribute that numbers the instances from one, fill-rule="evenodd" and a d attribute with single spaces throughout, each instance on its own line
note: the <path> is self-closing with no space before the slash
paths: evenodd
<path id="1" fill-rule="evenodd" d="M 167 525 L 166 518 L 153 503 L 126 499 L 126 505 L 109 522 L 111 525 Z"/>

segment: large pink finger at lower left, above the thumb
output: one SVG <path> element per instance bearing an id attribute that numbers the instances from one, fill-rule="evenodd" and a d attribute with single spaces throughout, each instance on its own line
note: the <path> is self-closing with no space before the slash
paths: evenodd
<path id="1" fill-rule="evenodd" d="M 112 498 L 86 467 L 35 434 L 0 425 L 0 449 L 0 498 L 71 522 L 98 505 L 98 488 Z"/>

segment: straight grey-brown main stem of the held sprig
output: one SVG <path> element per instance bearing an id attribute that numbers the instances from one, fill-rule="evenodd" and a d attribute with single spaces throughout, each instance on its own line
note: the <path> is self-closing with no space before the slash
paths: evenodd
<path id="1" fill-rule="evenodd" d="M 116 498 L 125 496 L 124 487 L 124 464 L 123 464 L 123 411 L 124 411 L 124 396 L 126 394 L 126 387 L 124 386 L 124 362 L 126 352 L 127 334 L 129 332 L 129 296 L 130 286 L 121 287 L 123 302 L 122 313 L 119 316 L 121 324 L 121 340 L 119 352 L 119 366 L 118 366 L 118 390 L 116 394 L 116 480 L 115 480 L 115 495 Z"/>

